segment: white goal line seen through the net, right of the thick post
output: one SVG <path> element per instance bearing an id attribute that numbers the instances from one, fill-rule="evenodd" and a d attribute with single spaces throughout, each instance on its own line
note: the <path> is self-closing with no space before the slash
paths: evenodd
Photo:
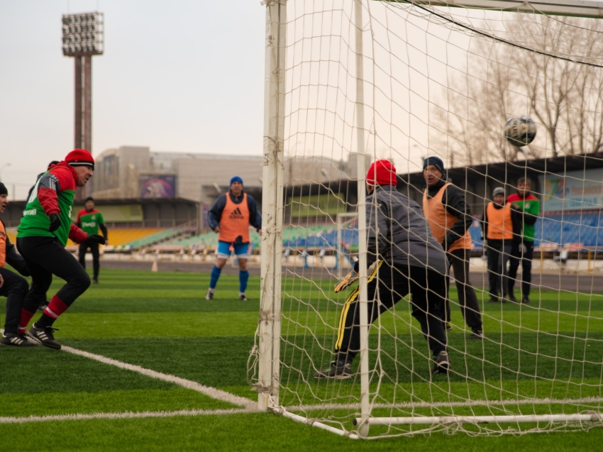
<path id="1" fill-rule="evenodd" d="M 603 402 L 603 397 L 582 397 L 580 399 L 521 399 L 521 400 L 467 400 L 465 402 L 400 402 L 395 404 L 376 403 L 371 408 L 431 408 L 431 407 L 500 407 L 509 405 L 541 404 L 590 404 Z M 284 407 L 289 412 L 305 412 L 321 409 L 360 409 L 360 404 L 323 404 Z"/>

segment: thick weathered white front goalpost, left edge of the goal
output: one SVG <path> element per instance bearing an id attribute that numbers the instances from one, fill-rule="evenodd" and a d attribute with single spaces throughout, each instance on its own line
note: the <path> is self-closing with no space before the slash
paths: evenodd
<path id="1" fill-rule="evenodd" d="M 280 380 L 284 68 L 287 0 L 267 0 L 258 408 L 277 406 Z"/>

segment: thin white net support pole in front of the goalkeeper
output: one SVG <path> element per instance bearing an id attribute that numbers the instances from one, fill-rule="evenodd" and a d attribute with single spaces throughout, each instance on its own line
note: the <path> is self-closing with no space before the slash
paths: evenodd
<path id="1" fill-rule="evenodd" d="M 367 227 L 365 168 L 365 95 L 363 68 L 363 2 L 354 0 L 356 50 L 356 157 L 358 158 L 358 260 L 360 260 L 360 436 L 368 436 L 370 415 L 368 393 Z"/>

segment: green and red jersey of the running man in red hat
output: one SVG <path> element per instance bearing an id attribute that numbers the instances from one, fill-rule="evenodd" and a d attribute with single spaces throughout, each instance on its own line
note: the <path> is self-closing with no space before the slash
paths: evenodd
<path id="1" fill-rule="evenodd" d="M 75 243 L 85 241 L 87 233 L 71 222 L 76 188 L 76 172 L 67 162 L 60 162 L 45 172 L 27 200 L 17 237 L 56 237 L 63 246 L 68 238 Z M 61 226 L 52 232 L 48 231 L 51 214 L 57 214 L 61 220 Z"/>

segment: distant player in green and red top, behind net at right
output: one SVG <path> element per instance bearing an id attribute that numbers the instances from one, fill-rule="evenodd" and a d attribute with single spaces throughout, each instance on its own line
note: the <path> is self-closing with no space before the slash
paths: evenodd
<path id="1" fill-rule="evenodd" d="M 534 225 L 540 212 L 538 198 L 530 194 L 531 183 L 529 179 L 520 177 L 517 180 L 517 193 L 511 194 L 507 202 L 511 203 L 519 215 L 518 233 L 514 235 L 511 246 L 511 259 L 509 260 L 509 299 L 517 302 L 513 289 L 517 277 L 517 269 L 521 263 L 521 302 L 530 302 L 530 286 L 532 281 L 532 257 L 534 253 Z"/>

